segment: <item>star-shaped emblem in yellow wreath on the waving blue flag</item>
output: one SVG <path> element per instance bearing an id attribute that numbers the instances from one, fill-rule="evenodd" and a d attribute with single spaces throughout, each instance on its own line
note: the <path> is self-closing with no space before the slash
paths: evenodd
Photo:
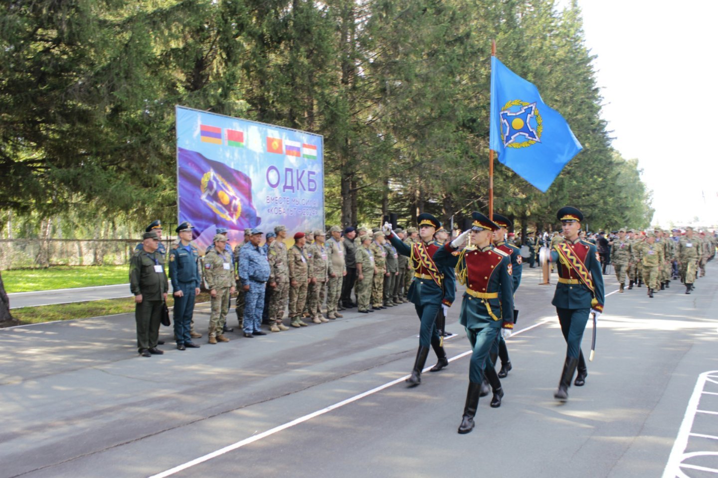
<path id="1" fill-rule="evenodd" d="M 500 118 L 501 140 L 503 140 L 504 146 L 526 148 L 541 143 L 544 125 L 536 102 L 509 101 L 501 109 Z"/>

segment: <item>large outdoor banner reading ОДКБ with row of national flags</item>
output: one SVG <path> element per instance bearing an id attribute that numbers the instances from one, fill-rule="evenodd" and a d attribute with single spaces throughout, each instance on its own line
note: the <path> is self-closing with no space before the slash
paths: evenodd
<path id="1" fill-rule="evenodd" d="M 177 106 L 177 221 L 204 252 L 215 229 L 230 244 L 244 229 L 288 236 L 324 228 L 322 136 Z"/>

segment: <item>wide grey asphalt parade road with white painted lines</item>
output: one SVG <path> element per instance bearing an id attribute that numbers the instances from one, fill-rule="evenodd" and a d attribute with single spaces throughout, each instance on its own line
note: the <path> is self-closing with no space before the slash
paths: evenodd
<path id="1" fill-rule="evenodd" d="M 716 477 L 715 262 L 708 272 L 691 295 L 676 281 L 653 299 L 645 287 L 610 295 L 586 386 L 559 404 L 554 287 L 527 268 L 503 405 L 482 398 L 467 435 L 459 304 L 454 360 L 417 388 L 401 380 L 418 343 L 410 304 L 195 350 L 168 343 L 152 358 L 136 355 L 131 315 L 0 330 L 0 477 L 633 478 L 660 477 L 669 459 Z"/>

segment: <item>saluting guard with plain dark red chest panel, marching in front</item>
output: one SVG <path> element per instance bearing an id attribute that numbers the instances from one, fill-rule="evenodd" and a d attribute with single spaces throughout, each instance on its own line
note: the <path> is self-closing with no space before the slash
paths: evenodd
<path id="1" fill-rule="evenodd" d="M 473 212 L 471 216 L 471 229 L 462 232 L 434 254 L 434 261 L 454 268 L 459 283 L 467 287 L 461 303 L 460 323 L 466 328 L 472 355 L 460 434 L 467 434 L 474 428 L 474 416 L 485 377 L 493 388 L 490 406 L 501 406 L 503 389 L 489 354 L 495 346 L 499 330 L 505 337 L 513 330 L 511 261 L 508 254 L 491 244 L 494 231 L 500 227 L 478 212 Z M 470 236 L 469 245 L 458 251 L 467 236 Z"/>

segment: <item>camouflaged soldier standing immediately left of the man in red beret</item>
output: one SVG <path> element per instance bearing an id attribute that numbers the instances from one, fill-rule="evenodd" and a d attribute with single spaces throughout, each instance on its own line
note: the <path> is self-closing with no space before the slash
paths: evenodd
<path id="1" fill-rule="evenodd" d="M 286 302 L 289 300 L 289 265 L 286 253 L 286 226 L 279 225 L 274 228 L 276 241 L 272 242 L 267 252 L 269 259 L 269 282 L 272 288 L 269 299 L 269 330 L 279 332 L 289 330 L 281 320 L 286 310 Z"/>

